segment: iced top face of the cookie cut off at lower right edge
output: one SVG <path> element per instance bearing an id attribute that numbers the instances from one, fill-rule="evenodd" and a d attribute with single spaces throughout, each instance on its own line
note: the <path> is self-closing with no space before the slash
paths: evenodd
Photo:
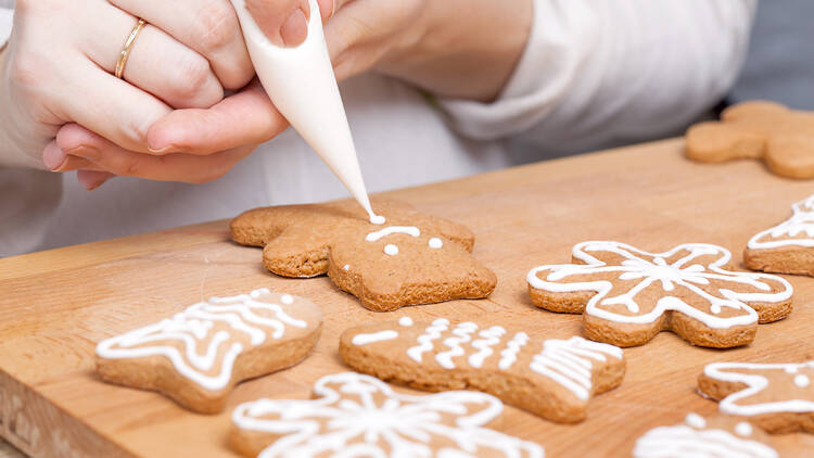
<path id="1" fill-rule="evenodd" d="M 814 420 L 814 385 L 810 383 L 814 379 L 814 360 L 800 364 L 713 362 L 704 367 L 703 377 L 732 384 L 732 390 L 727 390 L 732 393 L 720 402 L 722 414 L 741 417 L 809 414 Z M 746 387 L 741 389 L 742 385 Z M 701 384 L 701 391 L 707 391 L 704 384 Z M 811 420 L 810 423 L 814 424 Z"/>

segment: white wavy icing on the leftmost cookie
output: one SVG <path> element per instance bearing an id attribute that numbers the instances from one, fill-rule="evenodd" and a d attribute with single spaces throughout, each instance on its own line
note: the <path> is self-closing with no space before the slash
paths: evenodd
<path id="1" fill-rule="evenodd" d="M 233 297 L 212 297 L 208 303 L 194 304 L 173 318 L 106 339 L 97 345 L 97 354 L 107 359 L 164 356 L 187 379 L 206 390 L 220 390 L 231 380 L 238 355 L 246 349 L 232 340 L 232 333 L 247 335 L 251 345 L 256 346 L 269 336 L 282 339 L 285 327 L 307 328 L 306 321 L 291 317 L 280 305 L 259 301 L 270 294 L 262 289 Z M 280 296 L 281 302 L 285 302 L 284 296 Z M 272 317 L 263 316 L 268 313 Z M 229 331 L 218 330 L 213 334 L 216 323 L 228 326 Z M 222 360 L 216 368 L 219 355 Z M 213 369 L 215 373 L 209 374 Z"/>

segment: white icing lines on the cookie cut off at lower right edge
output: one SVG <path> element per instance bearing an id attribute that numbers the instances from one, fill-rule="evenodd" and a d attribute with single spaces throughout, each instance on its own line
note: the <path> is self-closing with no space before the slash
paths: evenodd
<path id="1" fill-rule="evenodd" d="M 789 386 L 776 389 L 778 394 L 783 393 L 784 396 L 788 396 L 789 398 L 754 403 L 750 402 L 749 397 L 768 387 L 768 379 L 753 372 L 738 372 L 739 370 L 783 371 L 785 374 L 789 376 L 789 379 L 791 379 L 789 382 L 796 384 L 796 380 L 793 379 L 799 376 L 792 378 L 791 374 L 806 369 L 814 369 L 814 360 L 801 364 L 713 362 L 704 367 L 703 373 L 715 380 L 730 383 L 742 383 L 747 385 L 746 389 L 721 399 L 718 408 L 722 412 L 727 415 L 750 417 L 763 414 L 812 412 L 814 411 L 814 387 L 809 389 L 806 393 L 807 398 L 794 398 L 792 396 L 799 395 L 793 389 L 790 390 L 791 385 L 789 384 Z"/>

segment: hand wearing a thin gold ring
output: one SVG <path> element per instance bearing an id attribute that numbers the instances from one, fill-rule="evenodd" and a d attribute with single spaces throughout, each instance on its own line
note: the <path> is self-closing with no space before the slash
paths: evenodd
<path id="1" fill-rule="evenodd" d="M 150 25 L 120 80 L 112 72 L 137 16 Z M 163 179 L 212 179 L 225 158 L 162 156 L 169 149 L 150 147 L 150 126 L 173 107 L 212 107 L 254 76 L 228 0 L 17 0 L 3 54 L 0 165 L 90 170 L 80 179 L 98 178 L 94 170 L 152 177 L 153 165 Z"/>

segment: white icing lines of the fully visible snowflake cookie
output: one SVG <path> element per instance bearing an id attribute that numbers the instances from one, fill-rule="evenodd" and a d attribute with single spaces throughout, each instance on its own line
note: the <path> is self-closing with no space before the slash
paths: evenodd
<path id="1" fill-rule="evenodd" d="M 665 259 L 681 251 L 686 251 L 683 256 L 672 265 Z M 609 252 L 624 257 L 620 265 L 608 265 L 588 252 Z M 676 310 L 695 318 L 710 328 L 726 329 L 733 326 L 751 325 L 758 321 L 758 313 L 748 306 L 747 302 L 777 303 L 791 297 L 792 288 L 783 278 L 766 273 L 733 272 L 724 270 L 723 267 L 729 262 L 732 255 L 723 247 L 704 244 L 688 243 L 674 247 L 673 250 L 652 254 L 619 242 L 583 242 L 574 246 L 573 255 L 585 264 L 563 264 L 539 266 L 532 269 L 526 280 L 532 288 L 551 292 L 575 292 L 595 291 L 587 303 L 585 313 L 598 318 L 624 323 L 650 323 L 654 322 L 666 310 Z M 692 264 L 699 256 L 716 255 L 716 259 L 707 266 Z M 652 258 L 647 260 L 647 258 Z M 545 280 L 537 273 L 547 272 Z M 627 292 L 608 297 L 613 284 L 607 280 L 582 281 L 569 283 L 564 281 L 571 276 L 584 276 L 592 273 L 619 272 L 620 280 L 639 280 Z M 718 288 L 717 294 L 713 295 L 698 285 L 709 285 L 710 280 L 727 281 L 739 285 L 748 285 L 749 292 L 735 292 L 727 288 Z M 772 280 L 783 285 L 783 290 L 776 293 L 771 291 L 771 285 L 765 280 Z M 561 282 L 562 281 L 562 282 Z M 651 284 L 660 284 L 662 296 L 658 300 L 652 310 L 640 313 L 636 296 Z M 689 290 L 699 298 L 710 304 L 710 313 L 705 313 L 687 304 L 682 298 L 671 295 L 676 287 Z M 624 305 L 632 315 L 619 314 L 603 308 L 610 305 Z M 740 310 L 739 315 L 733 317 L 716 316 L 723 307 Z"/>

